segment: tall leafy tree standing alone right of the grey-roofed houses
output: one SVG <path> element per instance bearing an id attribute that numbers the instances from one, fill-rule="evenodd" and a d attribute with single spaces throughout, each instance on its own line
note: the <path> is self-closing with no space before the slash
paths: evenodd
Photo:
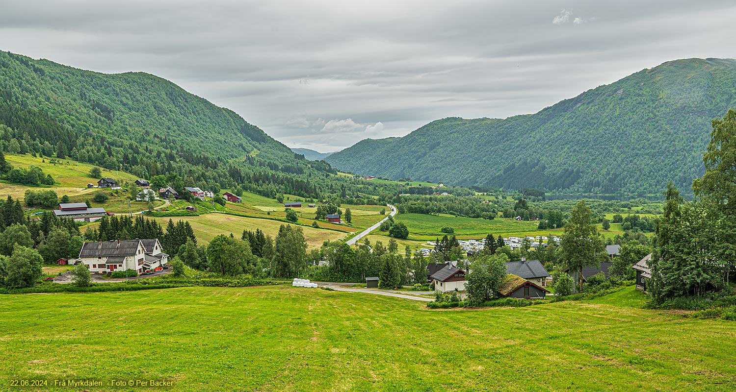
<path id="1" fill-rule="evenodd" d="M 585 200 L 578 202 L 570 212 L 570 221 L 560 237 L 562 260 L 570 271 L 578 271 L 578 285 L 583 291 L 583 267 L 597 267 L 605 260 L 606 247 L 595 224 L 591 221 L 590 207 Z"/>

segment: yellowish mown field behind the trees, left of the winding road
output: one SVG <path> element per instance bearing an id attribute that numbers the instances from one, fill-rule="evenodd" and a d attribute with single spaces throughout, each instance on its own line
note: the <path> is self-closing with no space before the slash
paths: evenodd
<path id="1" fill-rule="evenodd" d="M 166 227 L 169 217 L 154 218 L 161 226 Z M 208 243 L 216 235 L 224 234 L 236 236 L 240 238 L 244 229 L 255 231 L 261 229 L 266 235 L 276 237 L 278 229 L 282 224 L 281 221 L 272 221 L 269 219 L 247 218 L 244 216 L 226 215 L 219 213 L 205 214 L 199 216 L 172 216 L 174 223 L 178 220 L 189 221 L 191 228 L 194 229 L 194 235 L 197 235 L 199 243 Z M 315 229 L 314 227 L 302 227 L 304 230 L 304 238 L 310 248 L 322 246 L 325 240 L 337 240 L 343 238 L 347 233 L 336 232 L 333 230 Z"/>

